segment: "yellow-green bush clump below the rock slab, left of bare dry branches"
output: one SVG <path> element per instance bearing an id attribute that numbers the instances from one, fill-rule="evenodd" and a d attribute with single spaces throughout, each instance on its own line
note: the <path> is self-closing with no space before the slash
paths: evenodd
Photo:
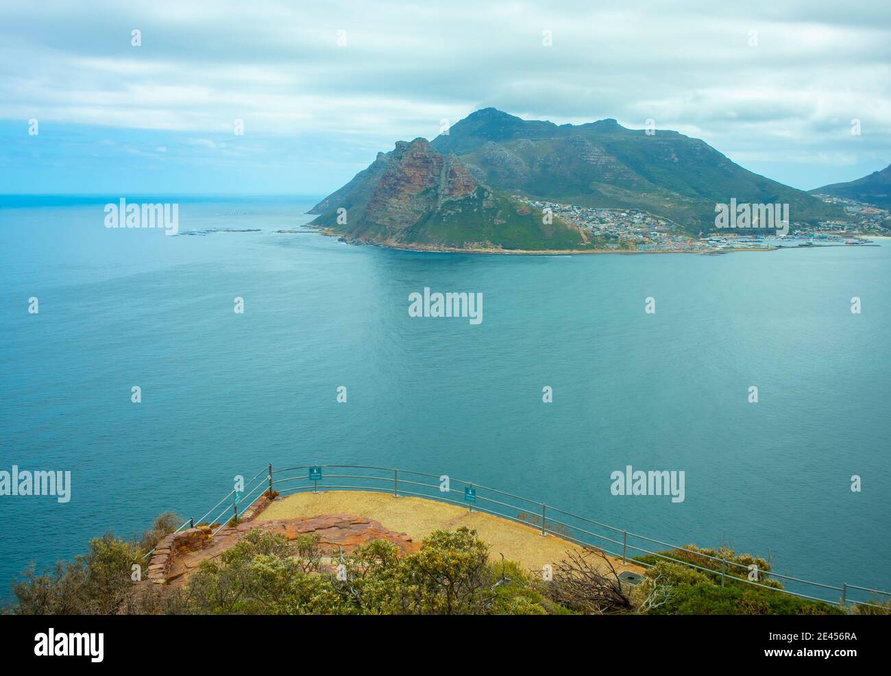
<path id="1" fill-rule="evenodd" d="M 548 614 L 529 573 L 493 566 L 476 532 L 437 531 L 418 552 L 374 540 L 321 565 L 317 538 L 254 530 L 203 562 L 183 592 L 200 614 Z M 336 574 L 343 565 L 346 580 Z"/>

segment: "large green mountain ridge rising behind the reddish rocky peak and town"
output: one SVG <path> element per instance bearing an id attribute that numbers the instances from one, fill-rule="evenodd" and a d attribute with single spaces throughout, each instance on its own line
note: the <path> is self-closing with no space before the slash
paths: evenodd
<path id="1" fill-rule="evenodd" d="M 712 229 L 715 203 L 788 202 L 793 222 L 839 218 L 841 210 L 759 176 L 699 139 L 622 127 L 616 120 L 560 125 L 494 108 L 472 113 L 431 143 L 455 153 L 478 180 L 535 199 L 637 208 L 688 232 Z"/>

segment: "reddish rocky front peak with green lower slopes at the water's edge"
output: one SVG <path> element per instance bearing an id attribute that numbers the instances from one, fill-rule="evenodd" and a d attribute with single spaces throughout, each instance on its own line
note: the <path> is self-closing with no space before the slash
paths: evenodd
<path id="1" fill-rule="evenodd" d="M 482 185 L 424 138 L 398 141 L 310 210 L 313 225 L 351 241 L 455 249 L 566 250 L 584 242 L 560 218 Z"/>

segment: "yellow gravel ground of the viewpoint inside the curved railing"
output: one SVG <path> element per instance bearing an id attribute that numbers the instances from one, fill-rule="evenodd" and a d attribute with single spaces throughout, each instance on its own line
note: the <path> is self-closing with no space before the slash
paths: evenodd
<path id="1" fill-rule="evenodd" d="M 396 498 L 373 491 L 328 491 L 295 493 L 276 500 L 257 516 L 257 522 L 290 519 L 298 516 L 352 514 L 380 521 L 391 531 L 405 532 L 420 542 L 437 529 L 454 530 L 461 526 L 475 530 L 489 544 L 492 559 L 504 555 L 523 568 L 541 571 L 544 564 L 557 564 L 566 552 L 578 547 L 554 535 L 544 538 L 535 528 L 499 516 L 470 512 L 466 507 L 424 498 Z M 622 565 L 613 559 L 617 572 L 642 573 L 637 565 Z"/>

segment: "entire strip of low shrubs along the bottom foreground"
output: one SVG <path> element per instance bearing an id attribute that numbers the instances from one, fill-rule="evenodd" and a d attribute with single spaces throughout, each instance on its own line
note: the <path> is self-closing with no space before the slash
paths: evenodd
<path id="1" fill-rule="evenodd" d="M 690 546 L 643 557 L 644 581 L 629 586 L 612 560 L 593 548 L 568 551 L 550 579 L 511 562 L 493 564 L 467 528 L 432 532 L 405 554 L 385 540 L 351 552 L 326 551 L 318 537 L 287 540 L 260 529 L 209 559 L 182 586 L 132 581 L 134 565 L 177 523 L 161 515 L 133 541 L 108 534 L 86 554 L 12 585 L 13 614 L 841 614 L 837 606 L 743 581 L 748 566 L 766 587 L 769 563 L 730 549 Z M 723 558 L 724 565 L 714 558 Z M 715 565 L 717 564 L 717 565 Z M 879 604 L 881 606 L 881 604 Z M 891 606 L 855 606 L 887 614 Z"/>

